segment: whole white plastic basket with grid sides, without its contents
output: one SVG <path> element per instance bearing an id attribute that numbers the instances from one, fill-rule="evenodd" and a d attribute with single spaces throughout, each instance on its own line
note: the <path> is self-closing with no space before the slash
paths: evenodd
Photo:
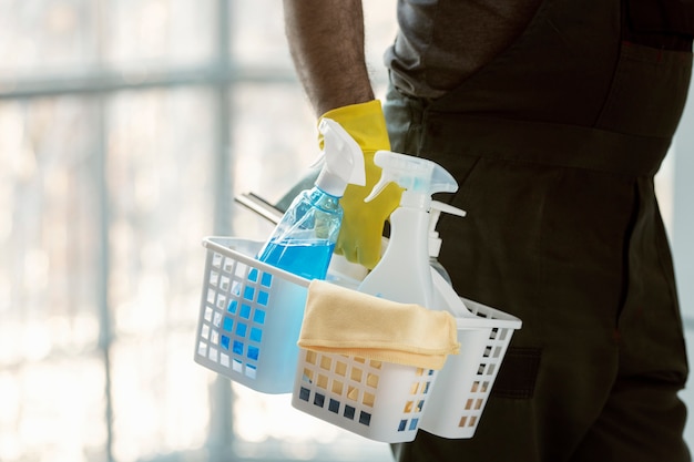
<path id="1" fill-rule="evenodd" d="M 259 392 L 292 392 L 296 409 L 371 440 L 411 441 L 419 429 L 472 438 L 520 319 L 445 296 L 460 315 L 461 347 L 440 371 L 316 353 L 296 345 L 307 279 L 256 260 L 262 243 L 207 237 L 203 245 L 196 362 Z M 453 309 L 461 300 L 471 314 Z"/>

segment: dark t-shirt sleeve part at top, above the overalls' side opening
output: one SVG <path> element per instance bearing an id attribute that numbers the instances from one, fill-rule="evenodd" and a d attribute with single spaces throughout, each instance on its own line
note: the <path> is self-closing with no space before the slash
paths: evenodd
<path id="1" fill-rule="evenodd" d="M 399 32 L 385 63 L 400 91 L 438 97 L 525 29 L 542 0 L 398 0 Z"/>

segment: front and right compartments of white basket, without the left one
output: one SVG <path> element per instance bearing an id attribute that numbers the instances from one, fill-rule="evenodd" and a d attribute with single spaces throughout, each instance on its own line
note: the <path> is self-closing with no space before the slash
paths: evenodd
<path id="1" fill-rule="evenodd" d="M 439 294 L 441 280 L 435 278 Z M 450 296 L 450 291 L 441 294 L 439 302 L 459 314 L 460 353 L 448 356 L 443 369 L 422 370 L 302 349 L 292 404 L 376 441 L 411 441 L 419 429 L 443 438 L 472 438 L 521 321 Z"/>

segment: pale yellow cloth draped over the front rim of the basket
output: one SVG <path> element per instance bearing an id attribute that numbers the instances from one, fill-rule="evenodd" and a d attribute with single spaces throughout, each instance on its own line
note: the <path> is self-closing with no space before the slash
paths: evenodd
<path id="1" fill-rule="evenodd" d="M 457 355 L 456 319 L 447 311 L 399 304 L 314 279 L 298 346 L 385 362 L 441 369 Z"/>

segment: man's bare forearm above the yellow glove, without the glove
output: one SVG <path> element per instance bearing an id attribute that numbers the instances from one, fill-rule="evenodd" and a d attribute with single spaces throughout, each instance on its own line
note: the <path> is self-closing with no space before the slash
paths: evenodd
<path id="1" fill-rule="evenodd" d="M 284 0 L 284 16 L 294 65 L 316 115 L 374 100 L 361 0 Z"/>

